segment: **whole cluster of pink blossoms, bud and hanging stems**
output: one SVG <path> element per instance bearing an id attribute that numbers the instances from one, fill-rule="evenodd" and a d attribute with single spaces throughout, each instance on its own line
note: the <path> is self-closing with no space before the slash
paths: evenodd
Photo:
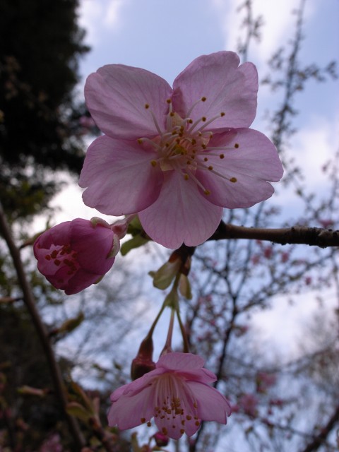
<path id="1" fill-rule="evenodd" d="M 270 182 L 278 182 L 283 167 L 273 143 L 249 129 L 257 90 L 255 66 L 239 65 L 234 52 L 198 57 L 173 87 L 121 64 L 91 74 L 85 99 L 103 134 L 88 148 L 79 185 L 87 206 L 125 218 L 112 225 L 77 218 L 47 230 L 34 244 L 40 272 L 73 295 L 109 271 L 136 215 L 150 239 L 177 249 L 213 236 L 223 208 L 249 208 L 269 198 Z M 171 349 L 181 266 L 174 259 L 155 275 L 160 288 L 174 278 L 163 305 L 172 309 L 167 342 L 154 363 L 151 335 L 143 341 L 132 363 L 136 379 L 112 393 L 111 426 L 150 426 L 154 419 L 160 436 L 179 439 L 195 434 L 202 421 L 226 424 L 231 414 L 204 360 Z"/>

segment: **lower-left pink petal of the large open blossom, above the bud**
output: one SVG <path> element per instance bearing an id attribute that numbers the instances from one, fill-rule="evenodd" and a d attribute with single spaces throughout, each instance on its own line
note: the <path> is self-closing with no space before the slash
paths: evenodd
<path id="1" fill-rule="evenodd" d="M 162 171 L 151 165 L 157 155 L 137 141 L 100 136 L 88 148 L 79 185 L 83 202 L 107 215 L 143 210 L 160 194 Z"/>

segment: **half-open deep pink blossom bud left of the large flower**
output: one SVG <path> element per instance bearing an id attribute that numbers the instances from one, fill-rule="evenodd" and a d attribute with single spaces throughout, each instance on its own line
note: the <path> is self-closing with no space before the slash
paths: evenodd
<path id="1" fill-rule="evenodd" d="M 112 267 L 119 239 L 105 222 L 76 218 L 45 231 L 35 241 L 37 268 L 49 283 L 73 295 Z"/>

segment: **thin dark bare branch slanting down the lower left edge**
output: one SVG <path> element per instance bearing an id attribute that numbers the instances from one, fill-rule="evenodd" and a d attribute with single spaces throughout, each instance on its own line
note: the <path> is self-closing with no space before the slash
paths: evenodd
<path id="1" fill-rule="evenodd" d="M 66 397 L 66 389 L 64 387 L 64 381 L 61 375 L 61 370 L 57 362 L 57 359 L 55 358 L 52 345 L 49 341 L 47 329 L 45 328 L 44 323 L 42 323 L 40 315 L 35 307 L 35 299 L 33 297 L 30 284 L 28 283 L 28 280 L 25 275 L 25 270 L 23 268 L 23 263 L 20 257 L 20 251 L 18 250 L 18 247 L 16 246 L 13 240 L 11 230 L 6 220 L 4 209 L 2 208 L 1 202 L 0 202 L 0 233 L 4 237 L 4 240 L 6 241 L 8 250 L 13 260 L 13 265 L 16 268 L 18 283 L 20 285 L 21 290 L 23 291 L 23 302 L 25 303 L 25 306 L 27 307 L 30 313 L 32 323 L 35 326 L 35 330 L 37 331 L 37 335 L 40 339 L 42 349 L 44 350 L 44 355 L 46 356 L 47 364 L 51 372 L 57 399 L 61 404 L 61 408 L 69 424 L 69 430 L 73 436 L 74 443 L 76 444 L 76 450 L 80 451 L 81 448 L 85 446 L 85 439 L 83 438 L 83 434 L 81 433 L 76 418 L 70 416 L 66 412 L 66 405 L 68 402 Z"/>

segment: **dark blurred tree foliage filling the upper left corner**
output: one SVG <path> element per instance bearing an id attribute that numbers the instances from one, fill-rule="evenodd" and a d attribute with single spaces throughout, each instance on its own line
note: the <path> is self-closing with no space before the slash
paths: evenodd
<path id="1" fill-rule="evenodd" d="M 48 170 L 81 170 L 83 107 L 73 88 L 88 47 L 77 7 L 78 0 L 0 0 L 0 196 L 14 218 L 46 206 L 57 188 Z"/>

